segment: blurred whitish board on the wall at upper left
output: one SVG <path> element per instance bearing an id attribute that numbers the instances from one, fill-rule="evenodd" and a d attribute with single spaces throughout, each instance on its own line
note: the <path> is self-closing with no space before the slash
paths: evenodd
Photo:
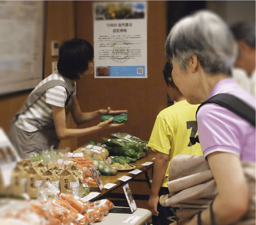
<path id="1" fill-rule="evenodd" d="M 0 1 L 0 95 L 43 78 L 44 1 Z"/>

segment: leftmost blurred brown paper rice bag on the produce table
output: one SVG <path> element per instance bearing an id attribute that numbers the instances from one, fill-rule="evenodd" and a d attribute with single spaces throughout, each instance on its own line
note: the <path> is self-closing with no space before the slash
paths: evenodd
<path id="1" fill-rule="evenodd" d="M 30 165 L 31 159 L 23 159 L 17 162 L 11 178 L 11 192 L 13 195 L 22 196 L 27 193 L 27 171 Z"/>

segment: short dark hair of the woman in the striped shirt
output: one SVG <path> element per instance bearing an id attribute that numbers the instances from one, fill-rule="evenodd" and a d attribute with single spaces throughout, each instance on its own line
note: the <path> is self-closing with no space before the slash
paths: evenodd
<path id="1" fill-rule="evenodd" d="M 78 38 L 65 41 L 59 50 L 58 72 L 66 78 L 79 79 L 93 59 L 94 50 L 88 41 Z"/>

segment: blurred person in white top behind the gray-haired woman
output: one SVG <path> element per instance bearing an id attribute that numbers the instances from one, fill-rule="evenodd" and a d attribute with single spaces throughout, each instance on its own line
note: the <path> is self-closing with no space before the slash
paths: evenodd
<path id="1" fill-rule="evenodd" d="M 239 55 L 235 66 L 246 72 L 246 77 L 241 77 L 241 72 L 233 70 L 233 77 L 248 92 L 256 97 L 256 40 L 255 23 L 237 22 L 231 26 L 233 35 L 237 40 Z M 244 79 L 243 79 L 244 78 Z"/>

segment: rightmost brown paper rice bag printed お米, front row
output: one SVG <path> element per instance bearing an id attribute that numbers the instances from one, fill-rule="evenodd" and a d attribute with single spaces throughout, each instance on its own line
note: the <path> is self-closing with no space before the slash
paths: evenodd
<path id="1" fill-rule="evenodd" d="M 82 180 L 82 172 L 77 168 L 77 162 L 66 164 L 60 176 L 61 192 L 81 197 L 83 190 Z"/>

